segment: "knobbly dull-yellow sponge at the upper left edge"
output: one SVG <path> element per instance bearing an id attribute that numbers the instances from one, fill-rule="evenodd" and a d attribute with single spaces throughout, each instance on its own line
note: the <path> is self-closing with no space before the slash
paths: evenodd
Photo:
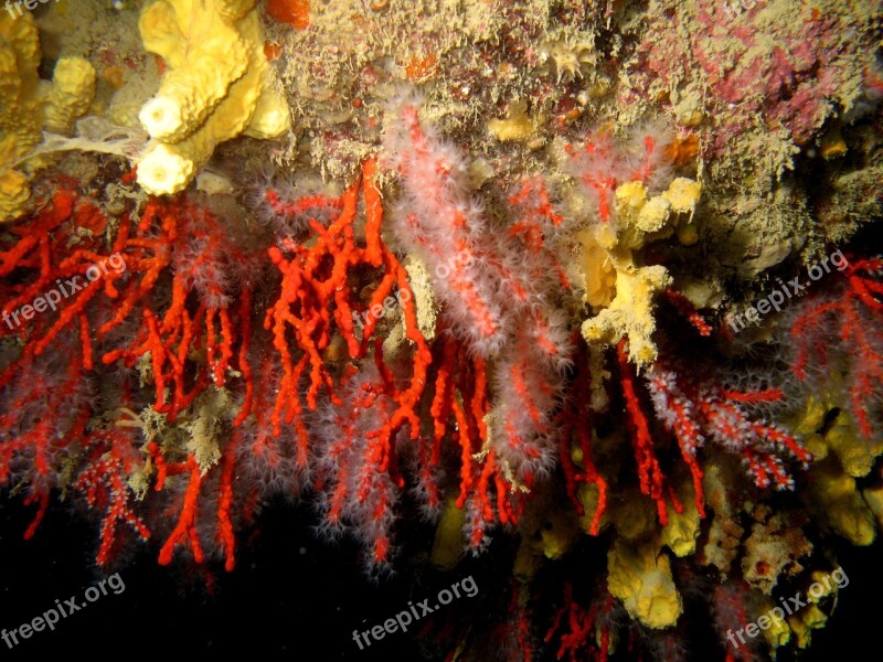
<path id="1" fill-rule="evenodd" d="M 33 17 L 0 12 L 0 222 L 28 211 L 30 172 L 22 168 L 43 128 L 67 132 L 95 96 L 95 70 L 79 57 L 62 57 L 53 82 L 41 82 L 40 38 Z"/>

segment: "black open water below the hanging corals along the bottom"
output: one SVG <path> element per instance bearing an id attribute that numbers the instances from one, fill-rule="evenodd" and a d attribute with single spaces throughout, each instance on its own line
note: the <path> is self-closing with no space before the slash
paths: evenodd
<path id="1" fill-rule="evenodd" d="M 0 628 L 15 628 L 74 595 L 82 601 L 86 587 L 100 577 L 92 565 L 96 530 L 64 508 L 50 508 L 34 540 L 21 540 L 33 510 L 15 499 L 0 505 Z M 183 659 L 201 653 L 267 655 L 273 660 L 402 660 L 418 661 L 419 647 L 411 633 L 386 634 L 360 651 L 352 630 L 382 622 L 408 600 L 436 595 L 451 581 L 474 575 L 478 600 L 492 604 L 502 564 L 466 562 L 450 573 L 417 573 L 412 568 L 379 586 L 365 583 L 357 545 L 333 547 L 316 541 L 309 530 L 313 514 L 304 505 L 279 504 L 265 511 L 251 542 L 238 546 L 234 573 L 215 568 L 213 595 L 204 580 L 183 564 L 160 567 L 156 548 L 128 559 L 119 569 L 126 588 L 108 591 L 56 624 L 54 632 L 35 632 L 9 650 L 0 641 L 0 660 L 38 654 L 82 653 L 97 660 L 120 658 Z M 432 531 L 415 530 L 414 536 Z M 302 549 L 302 552 L 301 552 Z M 843 544 L 837 549 L 850 584 L 828 628 L 813 633 L 813 647 L 800 660 L 864 659 L 862 643 L 877 641 L 883 572 L 880 543 L 868 548 Z M 480 563 L 480 562 L 479 562 Z M 508 567 L 511 567 L 509 565 Z M 496 569 L 494 569 L 496 568 Z M 483 592 L 482 592 L 483 591 Z M 445 609 L 471 618 L 477 602 L 454 600 Z M 696 631 L 710 634 L 708 615 L 688 612 Z M 365 621 L 363 624 L 362 621 Z M 691 641 L 691 659 L 723 660 L 711 640 Z M 316 652 L 311 652 L 316 651 Z M 543 660 L 553 660 L 549 650 Z M 630 660 L 619 655 L 614 660 Z M 791 659 L 779 655 L 779 660 Z"/>

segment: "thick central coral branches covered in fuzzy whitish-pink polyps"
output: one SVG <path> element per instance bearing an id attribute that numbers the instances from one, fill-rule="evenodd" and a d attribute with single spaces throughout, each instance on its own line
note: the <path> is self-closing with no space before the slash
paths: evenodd
<path id="1" fill-rule="evenodd" d="M 509 196 L 515 220 L 499 236 L 471 197 L 462 157 L 421 122 L 419 99 L 401 100 L 390 118 L 384 158 L 404 191 L 392 227 L 430 268 L 445 331 L 482 360 L 498 359 L 493 448 L 485 457 L 529 489 L 555 467 L 554 412 L 571 365 L 570 332 L 555 306 L 571 286 L 557 260 L 564 218 L 544 181 L 529 179 Z"/>

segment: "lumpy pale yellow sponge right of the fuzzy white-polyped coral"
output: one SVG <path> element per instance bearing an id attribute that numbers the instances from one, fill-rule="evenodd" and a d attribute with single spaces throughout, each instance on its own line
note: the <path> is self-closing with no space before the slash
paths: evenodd
<path id="1" fill-rule="evenodd" d="M 671 286 L 671 277 L 666 267 L 636 265 L 635 252 L 691 223 L 701 191 L 699 182 L 678 178 L 650 197 L 642 182 L 626 182 L 615 193 L 616 228 L 602 223 L 579 235 L 585 299 L 602 308 L 583 322 L 586 342 L 611 345 L 628 337 L 636 364 L 656 361 L 653 299 Z"/>

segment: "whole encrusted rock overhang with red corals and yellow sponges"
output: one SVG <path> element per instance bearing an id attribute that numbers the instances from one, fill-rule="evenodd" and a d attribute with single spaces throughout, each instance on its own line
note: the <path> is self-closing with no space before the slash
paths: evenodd
<path id="1" fill-rule="evenodd" d="M 810 645 L 883 525 L 873 3 L 20 4 L 19 535 L 235 573 L 283 496 L 374 580 L 492 559 L 438 659 Z"/>

